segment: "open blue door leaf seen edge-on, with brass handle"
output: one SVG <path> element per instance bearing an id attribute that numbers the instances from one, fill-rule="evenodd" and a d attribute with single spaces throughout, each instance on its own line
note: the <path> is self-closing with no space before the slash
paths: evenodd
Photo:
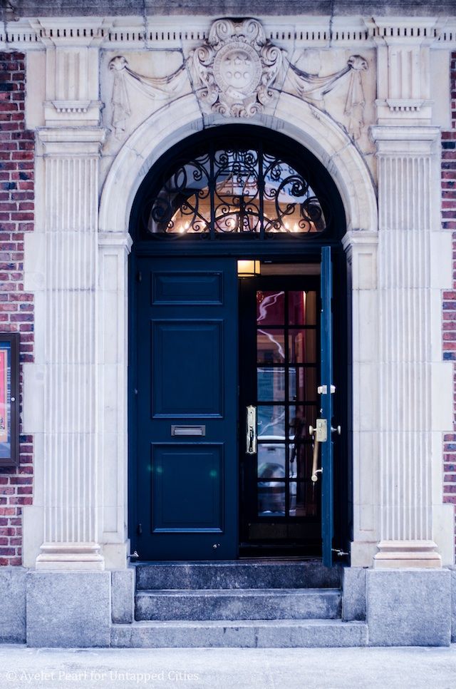
<path id="1" fill-rule="evenodd" d="M 323 564 L 333 563 L 333 317 L 331 247 L 321 250 L 321 418 L 326 421 L 326 440 L 321 442 L 321 537 Z"/>

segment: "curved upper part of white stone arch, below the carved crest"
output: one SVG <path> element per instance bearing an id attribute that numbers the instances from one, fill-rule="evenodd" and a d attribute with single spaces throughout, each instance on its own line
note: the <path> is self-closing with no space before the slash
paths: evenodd
<path id="1" fill-rule="evenodd" d="M 232 122 L 223 116 L 204 118 L 192 94 L 153 113 L 128 138 L 108 172 L 100 200 L 100 232 L 128 231 L 135 194 L 162 153 L 206 126 Z M 248 123 L 279 129 L 321 160 L 341 194 L 347 230 L 377 230 L 377 202 L 368 167 L 346 132 L 326 113 L 282 93 L 274 116 L 254 116 Z"/>

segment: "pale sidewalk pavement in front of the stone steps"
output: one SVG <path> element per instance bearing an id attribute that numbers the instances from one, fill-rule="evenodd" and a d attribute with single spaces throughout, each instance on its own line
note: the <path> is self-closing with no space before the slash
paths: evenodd
<path id="1" fill-rule="evenodd" d="M 456 645 L 70 650 L 0 645 L 0 688 L 26 687 L 456 689 Z"/>

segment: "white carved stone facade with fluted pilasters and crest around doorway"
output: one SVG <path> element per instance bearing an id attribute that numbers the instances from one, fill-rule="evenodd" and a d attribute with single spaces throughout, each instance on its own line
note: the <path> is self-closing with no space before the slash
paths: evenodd
<path id="1" fill-rule="evenodd" d="M 455 127 L 456 20 L 24 17 L 0 40 L 4 53 L 24 53 L 25 126 L 36 136 L 35 225 L 24 234 L 35 324 L 34 359 L 23 363 L 22 432 L 34 447 L 24 566 L 127 564 L 130 210 L 168 148 L 239 122 L 311 150 L 346 210 L 351 564 L 452 564 L 442 461 L 454 432 L 442 357 L 452 228 L 442 226 L 440 166 L 441 131 Z"/>

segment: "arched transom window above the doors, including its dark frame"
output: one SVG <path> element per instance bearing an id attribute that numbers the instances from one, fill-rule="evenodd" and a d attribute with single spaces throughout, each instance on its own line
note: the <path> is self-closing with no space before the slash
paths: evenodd
<path id="1" fill-rule="evenodd" d="M 208 128 L 167 150 L 142 180 L 131 218 L 140 240 L 184 245 L 296 238 L 313 246 L 345 231 L 340 195 L 315 155 L 283 133 L 244 125 Z"/>

